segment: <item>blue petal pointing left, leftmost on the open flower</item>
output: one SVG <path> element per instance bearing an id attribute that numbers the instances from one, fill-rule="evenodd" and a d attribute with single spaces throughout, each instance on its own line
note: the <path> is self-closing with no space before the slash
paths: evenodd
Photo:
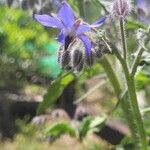
<path id="1" fill-rule="evenodd" d="M 56 17 L 51 17 L 49 15 L 34 15 L 34 18 L 43 26 L 46 27 L 53 27 L 53 28 L 63 28 L 63 24 L 61 21 Z"/>

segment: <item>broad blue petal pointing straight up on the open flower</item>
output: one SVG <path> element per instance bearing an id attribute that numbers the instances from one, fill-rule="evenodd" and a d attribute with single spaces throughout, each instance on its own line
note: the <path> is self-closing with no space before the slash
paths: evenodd
<path id="1" fill-rule="evenodd" d="M 71 28 L 75 21 L 75 16 L 72 8 L 67 2 L 62 3 L 62 7 L 58 12 L 59 19 L 63 22 L 66 28 Z"/>

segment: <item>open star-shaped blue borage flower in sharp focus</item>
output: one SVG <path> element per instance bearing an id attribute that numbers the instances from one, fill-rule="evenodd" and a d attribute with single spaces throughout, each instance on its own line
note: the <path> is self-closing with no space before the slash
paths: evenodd
<path id="1" fill-rule="evenodd" d="M 67 2 L 62 2 L 60 10 L 57 15 L 38 15 L 35 14 L 34 18 L 42 25 L 46 27 L 53 27 L 60 29 L 60 33 L 57 37 L 58 41 L 64 46 L 64 50 L 67 51 L 69 45 L 75 40 L 82 41 L 85 54 L 90 58 L 92 42 L 86 33 L 92 28 L 102 25 L 106 17 L 101 18 L 97 22 L 89 25 L 83 22 L 81 19 L 76 19 L 75 14 Z M 61 51 L 61 50 L 60 50 Z M 69 59 L 69 55 L 65 54 L 66 60 Z M 66 62 L 67 64 L 67 62 Z"/>

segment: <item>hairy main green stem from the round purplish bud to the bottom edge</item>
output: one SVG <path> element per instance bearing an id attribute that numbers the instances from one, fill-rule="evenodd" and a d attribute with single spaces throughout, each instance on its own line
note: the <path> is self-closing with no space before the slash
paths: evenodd
<path id="1" fill-rule="evenodd" d="M 139 106 L 137 103 L 137 95 L 136 95 L 136 89 L 135 89 L 135 83 L 134 83 L 134 76 L 132 74 L 130 74 L 128 66 L 127 66 L 127 61 L 126 61 L 127 43 L 126 43 L 126 38 L 125 38 L 125 29 L 124 29 L 124 20 L 123 19 L 120 19 L 120 28 L 121 28 L 122 46 L 123 46 L 123 51 L 124 51 L 124 60 L 123 61 L 120 60 L 120 62 L 122 64 L 122 67 L 123 67 L 123 70 L 125 73 L 128 94 L 129 94 L 129 98 L 130 98 L 130 104 L 131 104 L 131 108 L 132 108 L 132 111 L 134 114 L 134 118 L 136 120 L 136 126 L 138 129 L 139 138 L 137 140 L 140 143 L 137 143 L 137 144 L 140 144 L 140 148 L 142 150 L 147 150 L 147 142 L 146 142 L 144 125 L 143 125 L 143 121 L 142 121 L 141 114 L 139 111 Z M 142 51 L 139 51 L 140 55 L 142 55 L 141 52 Z M 139 58 L 137 58 L 137 60 L 139 60 Z M 134 67 L 134 68 L 136 69 L 136 67 Z"/>

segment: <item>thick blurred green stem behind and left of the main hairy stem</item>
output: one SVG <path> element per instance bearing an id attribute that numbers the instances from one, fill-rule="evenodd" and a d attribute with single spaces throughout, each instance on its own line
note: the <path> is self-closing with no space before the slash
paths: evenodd
<path id="1" fill-rule="evenodd" d="M 136 140 L 137 139 L 136 126 L 135 126 L 135 121 L 133 119 L 134 117 L 133 117 L 133 114 L 131 111 L 132 109 L 131 109 L 130 103 L 128 101 L 128 98 L 127 98 L 127 94 L 126 94 L 126 96 L 123 96 L 121 98 L 121 93 L 122 93 L 121 85 L 120 85 L 118 78 L 117 78 L 110 62 L 108 61 L 107 57 L 103 57 L 103 59 L 101 60 L 101 64 L 103 65 L 103 68 L 105 69 L 105 72 L 106 72 L 111 84 L 113 85 L 115 94 L 121 103 L 121 107 L 122 107 L 124 115 L 128 121 L 129 129 L 131 131 L 133 140 Z"/>

